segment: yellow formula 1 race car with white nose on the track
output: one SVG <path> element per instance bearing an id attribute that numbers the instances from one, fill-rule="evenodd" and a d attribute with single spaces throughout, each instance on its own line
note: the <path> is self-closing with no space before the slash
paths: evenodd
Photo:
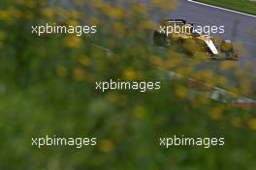
<path id="1" fill-rule="evenodd" d="M 238 60 L 239 58 L 231 41 L 198 33 L 193 23 L 187 23 L 183 19 L 163 20 L 159 29 L 153 33 L 153 42 L 157 46 L 171 46 L 176 43 L 184 50 L 189 43 L 192 44 L 190 45 L 192 47 L 188 47 L 190 54 L 201 51 L 211 60 Z"/>

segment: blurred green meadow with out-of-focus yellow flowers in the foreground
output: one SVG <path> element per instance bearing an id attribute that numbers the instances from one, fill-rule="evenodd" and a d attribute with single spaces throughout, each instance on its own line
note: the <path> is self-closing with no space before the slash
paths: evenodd
<path id="1" fill-rule="evenodd" d="M 234 98 L 253 99 L 252 66 L 240 70 L 228 61 L 217 63 L 221 71 L 211 63 L 198 69 L 202 62 L 191 57 L 204 54 L 194 50 L 196 44 L 186 52 L 152 45 L 153 30 L 176 3 L 1 0 L 0 169 L 255 169 L 255 107 L 235 107 L 204 93 L 216 86 Z M 97 34 L 31 34 L 31 25 L 47 22 L 97 25 Z M 170 71 L 201 83 L 191 89 Z M 145 93 L 95 90 L 95 81 L 111 78 L 162 86 Z M 31 146 L 31 137 L 47 134 L 93 136 L 98 145 Z M 225 146 L 159 146 L 159 137 L 175 134 L 225 137 Z"/>

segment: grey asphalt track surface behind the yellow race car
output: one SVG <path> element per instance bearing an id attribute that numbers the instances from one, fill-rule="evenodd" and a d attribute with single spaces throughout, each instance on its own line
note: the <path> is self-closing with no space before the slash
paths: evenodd
<path id="1" fill-rule="evenodd" d="M 218 36 L 242 44 L 245 52 L 240 56 L 241 66 L 245 66 L 247 62 L 256 66 L 256 17 L 203 6 L 187 0 L 178 0 L 176 9 L 167 17 L 185 19 L 202 26 L 225 26 L 225 33 Z"/>

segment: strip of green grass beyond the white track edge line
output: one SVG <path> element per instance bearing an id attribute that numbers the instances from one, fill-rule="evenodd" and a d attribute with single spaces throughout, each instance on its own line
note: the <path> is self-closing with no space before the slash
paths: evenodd
<path id="1" fill-rule="evenodd" d="M 246 14 L 256 14 L 256 2 L 251 2 L 249 0 L 196 0 L 199 2 L 207 3 L 210 5 L 223 7 L 230 10 L 235 10 L 238 12 Z"/>

